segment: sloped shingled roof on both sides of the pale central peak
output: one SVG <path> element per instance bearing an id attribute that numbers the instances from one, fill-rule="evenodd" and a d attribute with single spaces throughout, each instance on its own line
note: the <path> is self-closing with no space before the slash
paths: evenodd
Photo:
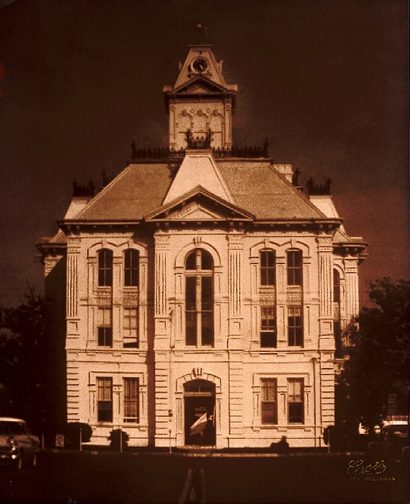
<path id="1" fill-rule="evenodd" d="M 272 165 L 263 160 L 213 160 L 231 203 L 256 220 L 321 220 L 326 216 Z M 177 166 L 172 163 L 130 164 L 97 194 L 71 222 L 140 221 L 165 203 Z M 184 187 L 184 193 L 194 189 Z M 182 196 L 181 193 L 177 194 Z M 222 196 L 220 193 L 219 197 Z M 225 198 L 223 198 L 225 199 Z M 230 198 L 229 198 L 230 199 Z M 167 199 L 166 203 L 170 203 Z"/>

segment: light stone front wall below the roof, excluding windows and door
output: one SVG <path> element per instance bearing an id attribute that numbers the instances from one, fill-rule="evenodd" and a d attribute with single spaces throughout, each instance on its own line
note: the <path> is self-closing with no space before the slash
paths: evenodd
<path id="1" fill-rule="evenodd" d="M 122 257 L 129 247 L 140 253 L 138 293 L 123 287 Z M 101 248 L 113 251 L 112 288 L 97 286 Z M 185 257 L 195 248 L 208 251 L 214 261 L 212 348 L 185 345 Z M 259 254 L 267 248 L 276 253 L 276 348 L 261 348 L 259 341 Z M 303 254 L 301 289 L 287 286 L 286 280 L 286 251 L 295 248 Z M 131 232 L 69 238 L 68 420 L 89 423 L 95 443 L 106 444 L 112 428 L 123 428 L 131 445 L 181 446 L 185 443 L 183 383 L 200 377 L 216 384 L 218 447 L 268 446 L 283 435 L 291 446 L 321 446 L 324 427 L 334 422 L 332 270 L 337 267 L 341 273 L 342 314 L 347 320 L 354 310 L 349 296 L 357 289 L 353 265 L 352 260 L 334 257 L 330 235 L 307 231 L 225 231 L 202 225 L 157 231 L 154 240 Z M 137 295 L 140 345 L 127 349 L 122 347 L 122 309 Z M 295 300 L 303 305 L 303 347 L 290 347 L 287 341 L 287 309 Z M 104 305 L 113 309 L 112 348 L 97 345 L 96 314 Z M 114 417 L 109 425 L 99 424 L 96 416 L 96 379 L 104 376 L 113 379 Z M 138 424 L 122 421 L 125 377 L 140 380 Z M 277 380 L 277 425 L 261 423 L 260 380 L 266 377 Z M 287 422 L 289 378 L 304 380 L 303 425 Z"/>

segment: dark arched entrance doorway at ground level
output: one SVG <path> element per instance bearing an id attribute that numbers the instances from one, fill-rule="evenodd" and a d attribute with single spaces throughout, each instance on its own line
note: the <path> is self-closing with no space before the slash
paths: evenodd
<path id="1" fill-rule="evenodd" d="M 216 443 L 215 383 L 191 380 L 184 383 L 185 444 Z"/>

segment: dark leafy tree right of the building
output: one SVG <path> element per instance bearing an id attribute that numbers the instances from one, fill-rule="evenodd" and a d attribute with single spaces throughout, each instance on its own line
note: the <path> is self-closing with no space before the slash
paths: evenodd
<path id="1" fill-rule="evenodd" d="M 410 282 L 389 278 L 370 285 L 372 307 L 359 315 L 349 329 L 351 347 L 341 377 L 350 418 L 363 417 L 368 426 L 388 413 L 389 394 L 407 413 L 409 393 Z M 400 411 L 398 411 L 400 413 Z"/>

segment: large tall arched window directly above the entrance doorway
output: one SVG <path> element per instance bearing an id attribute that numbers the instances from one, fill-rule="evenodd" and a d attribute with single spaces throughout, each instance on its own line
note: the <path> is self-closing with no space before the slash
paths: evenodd
<path id="1" fill-rule="evenodd" d="M 185 330 L 189 346 L 213 346 L 213 259 L 203 249 L 185 260 Z"/>

